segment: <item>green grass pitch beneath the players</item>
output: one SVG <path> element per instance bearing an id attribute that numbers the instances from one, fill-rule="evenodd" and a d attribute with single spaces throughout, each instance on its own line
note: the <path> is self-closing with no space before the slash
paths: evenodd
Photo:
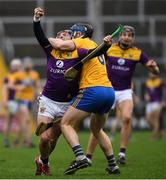
<path id="1" fill-rule="evenodd" d="M 85 150 L 89 133 L 80 133 L 81 144 Z M 34 137 L 36 144 L 38 138 Z M 1 138 L 2 142 L 2 138 Z M 113 141 L 114 154 L 117 157 L 119 149 L 119 134 Z M 38 148 L 25 149 L 4 148 L 0 145 L 0 178 L 50 178 L 34 175 L 34 158 Z M 64 176 L 63 172 L 74 159 L 69 146 L 60 138 L 57 148 L 50 158 L 54 179 L 165 179 L 166 178 L 166 139 L 150 140 L 149 132 L 134 132 L 127 150 L 127 165 L 121 167 L 120 175 L 105 173 L 106 160 L 99 148 L 96 149 L 93 165 L 79 170 L 75 175 Z"/>

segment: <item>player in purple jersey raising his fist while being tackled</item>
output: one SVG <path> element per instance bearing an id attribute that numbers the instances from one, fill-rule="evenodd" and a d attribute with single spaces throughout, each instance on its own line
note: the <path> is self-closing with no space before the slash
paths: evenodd
<path id="1" fill-rule="evenodd" d="M 57 123 L 40 135 L 40 155 L 36 158 L 35 163 L 36 175 L 51 175 L 49 156 L 61 134 L 59 120 L 67 110 L 70 100 L 78 91 L 77 78 L 68 82 L 64 79 L 64 72 L 74 65 L 82 54 L 77 50 L 66 52 L 53 49 L 40 26 L 40 18 L 43 15 L 44 11 L 41 8 L 34 10 L 34 33 L 47 56 L 47 79 L 39 101 L 38 128 L 42 128 L 40 126 L 42 123 Z M 71 34 L 64 30 L 59 32 L 56 38 L 71 39 Z"/>

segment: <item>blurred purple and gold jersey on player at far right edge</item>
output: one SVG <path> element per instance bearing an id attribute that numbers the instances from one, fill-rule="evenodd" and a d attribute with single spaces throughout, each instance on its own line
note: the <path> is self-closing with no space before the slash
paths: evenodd
<path id="1" fill-rule="evenodd" d="M 161 102 L 163 83 L 160 78 L 148 79 L 145 83 L 146 92 L 150 97 L 149 102 Z"/>

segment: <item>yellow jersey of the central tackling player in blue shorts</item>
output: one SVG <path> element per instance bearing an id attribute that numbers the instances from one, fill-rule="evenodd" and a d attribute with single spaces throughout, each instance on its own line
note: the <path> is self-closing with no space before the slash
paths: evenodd
<path id="1" fill-rule="evenodd" d="M 97 44 L 89 38 L 76 38 L 73 40 L 76 48 L 93 49 Z M 95 57 L 86 62 L 82 67 L 79 88 L 94 86 L 112 87 L 107 77 L 106 63 L 104 56 Z"/>

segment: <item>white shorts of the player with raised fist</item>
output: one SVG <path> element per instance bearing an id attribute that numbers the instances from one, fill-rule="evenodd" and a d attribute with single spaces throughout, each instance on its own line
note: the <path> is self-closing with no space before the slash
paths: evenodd
<path id="1" fill-rule="evenodd" d="M 42 95 L 39 101 L 38 115 L 56 120 L 64 115 L 69 105 L 69 102 L 56 102 Z"/>

